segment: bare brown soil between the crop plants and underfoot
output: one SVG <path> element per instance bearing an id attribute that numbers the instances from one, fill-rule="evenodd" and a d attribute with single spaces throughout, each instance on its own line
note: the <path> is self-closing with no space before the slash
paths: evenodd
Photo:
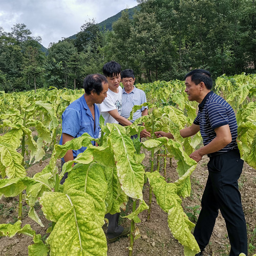
<path id="1" fill-rule="evenodd" d="M 149 154 L 145 153 L 146 157 L 143 161 L 145 170 L 149 171 Z M 183 199 L 182 205 L 185 212 L 193 212 L 193 207 L 200 205 L 200 200 L 203 194 L 204 186 L 207 180 L 207 161 L 205 156 L 198 163 L 196 170 L 191 175 L 191 196 Z M 44 160 L 41 164 L 37 163 L 28 168 L 28 176 L 32 177 L 35 173 L 40 172 L 49 163 L 49 159 Z M 60 168 L 60 163 L 58 163 Z M 160 165 L 160 173 L 163 163 Z M 172 166 L 167 163 L 166 180 L 173 182 L 178 178 L 176 173 L 176 162 L 172 160 Z M 239 187 L 242 196 L 242 203 L 244 214 L 247 223 L 248 232 L 248 256 L 252 256 L 256 252 L 256 170 L 244 164 L 242 175 L 239 179 Z M 148 202 L 148 190 L 149 185 L 146 183 L 143 189 L 144 200 Z M 17 201 L 18 198 L 2 198 L 0 200 L 0 223 L 14 223 L 17 221 Z M 191 208 L 187 208 L 190 206 Z M 127 204 L 126 213 L 131 211 L 131 203 Z M 43 215 L 40 206 L 36 208 L 38 215 L 40 216 L 42 223 L 45 227 L 40 227 L 37 223 L 32 221 L 28 216 L 28 206 L 24 202 L 23 209 L 23 223 L 30 224 L 31 227 L 40 233 L 43 240 L 45 240 L 49 234 L 46 233 L 49 225 L 51 224 Z M 200 208 L 199 208 L 200 210 Z M 197 214 L 195 215 L 198 216 Z M 169 231 L 167 225 L 167 214 L 158 206 L 155 197 L 152 199 L 152 213 L 150 221 L 147 221 L 147 211 L 141 212 L 139 215 L 140 223 L 136 224 L 139 228 L 141 237 L 134 243 L 133 255 L 135 256 L 179 256 L 184 255 L 183 246 L 173 238 L 172 233 Z M 129 226 L 130 221 L 120 218 L 121 225 Z M 254 231 L 255 229 L 255 231 Z M 254 233 L 253 233 L 254 231 Z M 32 238 L 24 235 L 16 235 L 13 238 L 2 237 L 0 239 L 0 255 L 16 256 L 16 255 L 28 255 L 28 245 L 32 244 Z M 130 240 L 128 237 L 120 238 L 115 243 L 108 244 L 108 256 L 127 256 L 129 254 Z M 254 247 L 255 246 L 255 247 Z M 254 247 L 254 248 L 253 248 Z M 229 241 L 227 238 L 227 231 L 225 227 L 224 219 L 219 214 L 214 231 L 212 233 L 210 243 L 205 249 L 204 255 L 224 256 L 229 255 Z"/>

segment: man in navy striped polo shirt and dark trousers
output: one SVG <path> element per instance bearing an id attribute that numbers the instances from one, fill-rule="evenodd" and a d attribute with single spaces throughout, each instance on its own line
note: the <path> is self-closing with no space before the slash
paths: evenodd
<path id="1" fill-rule="evenodd" d="M 231 245 L 230 256 L 241 252 L 247 255 L 247 231 L 238 179 L 243 160 L 236 142 L 237 121 L 231 106 L 211 91 L 212 79 L 206 70 L 196 69 L 185 76 L 185 92 L 190 101 L 199 103 L 194 123 L 180 130 L 180 135 L 190 137 L 201 132 L 204 146 L 189 157 L 199 162 L 208 155 L 209 175 L 202 197 L 202 210 L 195 227 L 194 236 L 203 255 L 210 240 L 219 213 L 226 222 Z M 174 138 L 170 133 L 156 132 L 157 137 Z"/>

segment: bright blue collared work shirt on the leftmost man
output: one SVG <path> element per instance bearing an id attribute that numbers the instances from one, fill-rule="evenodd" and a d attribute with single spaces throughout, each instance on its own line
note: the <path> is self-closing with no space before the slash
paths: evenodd
<path id="1" fill-rule="evenodd" d="M 73 101 L 62 114 L 62 133 L 71 135 L 74 138 L 80 137 L 84 133 L 88 133 L 93 138 L 99 137 L 99 109 L 94 104 L 94 117 L 86 103 L 84 95 Z M 95 130 L 94 130 L 95 122 Z M 62 134 L 59 141 L 62 144 Z M 95 145 L 95 141 L 92 141 Z M 78 154 L 84 152 L 86 147 L 81 147 L 79 150 L 73 150 L 74 159 Z M 62 158 L 64 161 L 64 159 Z"/>

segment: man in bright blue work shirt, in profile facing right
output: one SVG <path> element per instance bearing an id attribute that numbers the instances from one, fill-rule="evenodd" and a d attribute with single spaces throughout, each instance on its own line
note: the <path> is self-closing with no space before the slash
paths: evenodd
<path id="1" fill-rule="evenodd" d="M 103 75 L 88 75 L 84 78 L 83 89 L 84 94 L 73 101 L 62 114 L 62 134 L 59 142 L 62 145 L 83 133 L 88 133 L 93 138 L 99 137 L 100 115 L 96 104 L 102 103 L 107 96 L 109 84 Z M 95 141 L 92 141 L 92 144 L 95 145 Z M 86 147 L 69 150 L 62 159 L 62 164 L 74 160 L 85 150 Z M 68 173 L 65 173 L 60 184 L 63 184 L 67 177 Z"/>

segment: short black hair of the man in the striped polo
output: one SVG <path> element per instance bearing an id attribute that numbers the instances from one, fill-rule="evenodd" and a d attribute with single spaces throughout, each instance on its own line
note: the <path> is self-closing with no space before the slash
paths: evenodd
<path id="1" fill-rule="evenodd" d="M 204 69 L 194 69 L 185 75 L 185 79 L 189 76 L 191 76 L 191 81 L 194 83 L 199 84 L 200 82 L 204 82 L 206 88 L 211 90 L 212 79 L 209 71 Z"/>

